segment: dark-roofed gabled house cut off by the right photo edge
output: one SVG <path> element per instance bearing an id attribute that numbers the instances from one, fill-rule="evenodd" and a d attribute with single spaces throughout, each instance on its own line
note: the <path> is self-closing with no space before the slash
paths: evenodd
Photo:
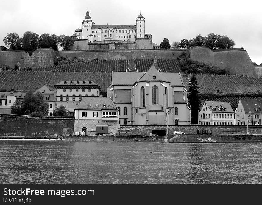
<path id="1" fill-rule="evenodd" d="M 236 124 L 261 124 L 262 99 L 241 98 L 236 108 Z"/>

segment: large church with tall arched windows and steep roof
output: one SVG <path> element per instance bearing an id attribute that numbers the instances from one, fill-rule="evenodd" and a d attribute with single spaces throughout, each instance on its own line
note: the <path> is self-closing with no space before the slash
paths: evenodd
<path id="1" fill-rule="evenodd" d="M 147 72 L 112 72 L 107 96 L 118 107 L 120 124 L 191 124 L 181 74 L 161 72 L 156 60 Z"/>

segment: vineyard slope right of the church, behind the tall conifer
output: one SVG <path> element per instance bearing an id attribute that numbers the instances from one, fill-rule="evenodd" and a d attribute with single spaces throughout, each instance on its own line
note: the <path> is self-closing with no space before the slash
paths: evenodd
<path id="1" fill-rule="evenodd" d="M 183 74 L 183 81 L 188 89 L 188 78 L 192 75 Z M 196 75 L 199 92 L 257 92 L 262 91 L 262 79 L 258 77 L 242 76 L 242 75 Z"/>

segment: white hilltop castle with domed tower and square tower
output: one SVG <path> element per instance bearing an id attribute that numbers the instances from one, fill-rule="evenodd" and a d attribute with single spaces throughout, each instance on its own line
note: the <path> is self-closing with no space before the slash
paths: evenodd
<path id="1" fill-rule="evenodd" d="M 71 36 L 73 39 L 94 41 L 135 41 L 136 39 L 151 39 L 151 34 L 145 34 L 145 18 L 139 14 L 135 19 L 136 25 L 95 25 L 89 11 L 78 28 Z"/>

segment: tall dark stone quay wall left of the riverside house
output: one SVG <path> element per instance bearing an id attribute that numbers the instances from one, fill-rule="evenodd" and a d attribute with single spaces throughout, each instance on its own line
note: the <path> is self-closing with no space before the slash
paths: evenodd
<path id="1" fill-rule="evenodd" d="M 0 136 L 52 136 L 73 133 L 74 117 L 0 114 Z"/>

